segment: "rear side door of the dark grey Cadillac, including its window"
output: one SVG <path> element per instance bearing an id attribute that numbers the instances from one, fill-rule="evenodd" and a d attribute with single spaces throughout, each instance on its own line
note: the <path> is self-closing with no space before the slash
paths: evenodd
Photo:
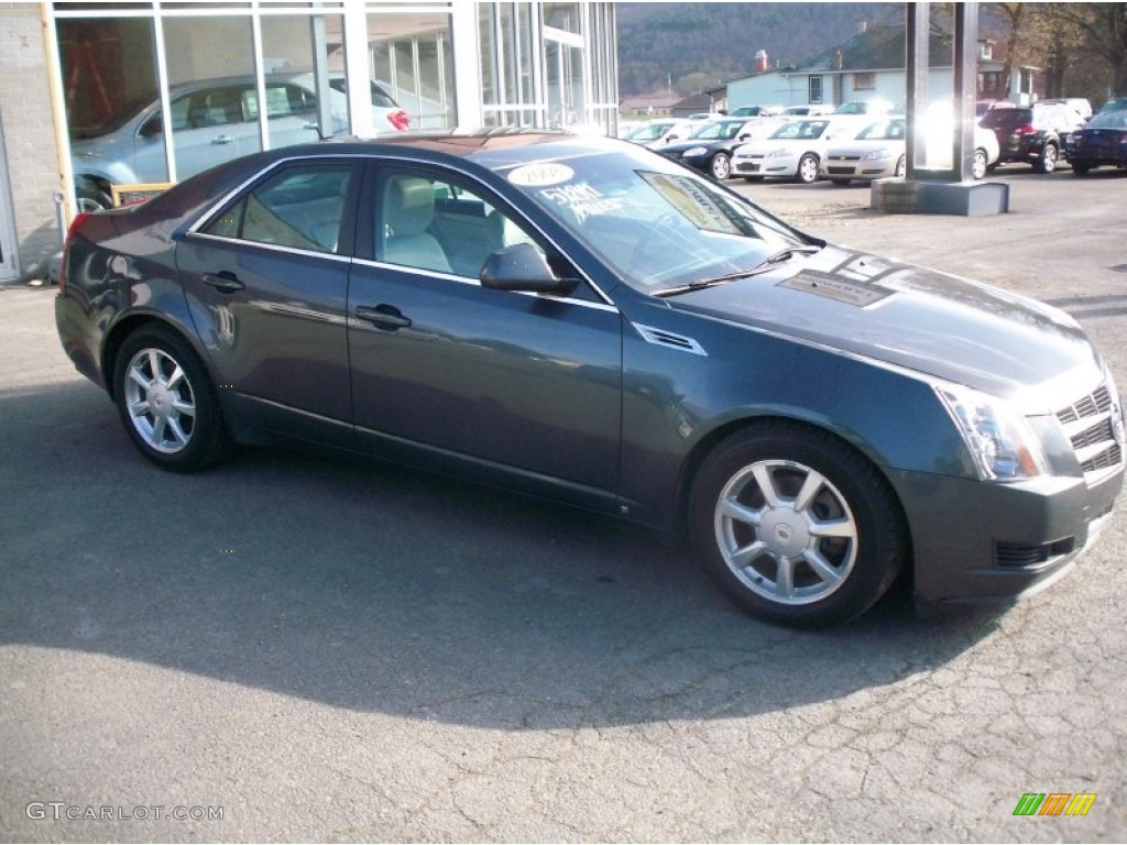
<path id="1" fill-rule="evenodd" d="M 177 249 L 232 418 L 344 447 L 355 169 L 347 159 L 275 168 Z"/>

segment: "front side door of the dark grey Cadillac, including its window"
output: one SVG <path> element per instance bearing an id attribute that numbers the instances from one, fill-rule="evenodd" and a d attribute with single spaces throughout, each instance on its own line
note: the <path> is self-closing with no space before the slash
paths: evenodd
<path id="1" fill-rule="evenodd" d="M 557 496 L 609 501 L 618 311 L 586 288 L 560 299 L 482 287 L 492 250 L 532 240 L 482 187 L 397 168 L 369 178 L 360 225 L 374 256 L 355 263 L 348 294 L 360 442 L 383 454 L 408 444 L 453 453 L 530 482 L 561 480 Z"/>

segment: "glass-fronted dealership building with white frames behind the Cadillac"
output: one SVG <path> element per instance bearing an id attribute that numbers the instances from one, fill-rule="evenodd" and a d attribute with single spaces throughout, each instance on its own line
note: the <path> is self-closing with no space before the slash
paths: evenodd
<path id="1" fill-rule="evenodd" d="M 0 2 L 0 283 L 45 276 L 79 208 L 258 150 L 609 133 L 616 78 L 610 2 Z"/>

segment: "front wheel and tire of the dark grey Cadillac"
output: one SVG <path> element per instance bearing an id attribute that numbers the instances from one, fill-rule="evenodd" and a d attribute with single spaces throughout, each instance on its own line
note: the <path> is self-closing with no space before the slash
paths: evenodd
<path id="1" fill-rule="evenodd" d="M 877 470 L 829 434 L 789 421 L 749 426 L 712 450 L 689 526 L 695 554 L 736 605 L 791 628 L 857 617 L 908 555 L 898 502 Z"/>

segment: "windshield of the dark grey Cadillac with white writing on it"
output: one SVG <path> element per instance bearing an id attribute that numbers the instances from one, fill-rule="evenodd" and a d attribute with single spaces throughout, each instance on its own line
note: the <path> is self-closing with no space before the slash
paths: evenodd
<path id="1" fill-rule="evenodd" d="M 640 148 L 508 166 L 502 176 L 647 293 L 745 273 L 810 243 L 739 195 Z"/>

